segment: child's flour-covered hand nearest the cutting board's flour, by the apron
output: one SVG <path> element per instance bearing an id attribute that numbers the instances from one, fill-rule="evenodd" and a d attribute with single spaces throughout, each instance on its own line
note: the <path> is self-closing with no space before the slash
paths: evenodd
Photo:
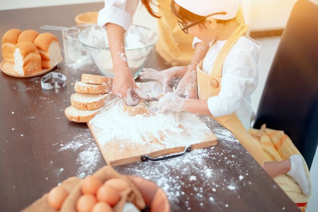
<path id="1" fill-rule="evenodd" d="M 174 93 L 167 93 L 158 102 L 158 111 L 162 113 L 166 110 L 170 111 L 182 111 L 182 106 L 184 102 L 184 98 L 174 94 Z"/>

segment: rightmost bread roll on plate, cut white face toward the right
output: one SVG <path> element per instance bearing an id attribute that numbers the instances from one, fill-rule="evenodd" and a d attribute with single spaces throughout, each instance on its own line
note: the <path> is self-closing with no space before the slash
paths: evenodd
<path id="1" fill-rule="evenodd" d="M 42 58 L 42 68 L 54 67 L 62 61 L 61 49 L 52 33 L 42 33 L 34 41 Z"/>

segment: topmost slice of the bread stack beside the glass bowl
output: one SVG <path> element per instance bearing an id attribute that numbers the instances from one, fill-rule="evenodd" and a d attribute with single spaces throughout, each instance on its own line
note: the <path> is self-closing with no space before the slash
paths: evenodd
<path id="1" fill-rule="evenodd" d="M 112 86 L 76 82 L 74 85 L 74 89 L 78 93 L 109 93 L 112 90 Z"/>

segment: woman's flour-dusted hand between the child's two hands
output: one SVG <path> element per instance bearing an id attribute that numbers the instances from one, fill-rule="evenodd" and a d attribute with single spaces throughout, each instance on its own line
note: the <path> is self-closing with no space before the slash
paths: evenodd
<path id="1" fill-rule="evenodd" d="M 187 72 L 173 93 L 186 99 L 198 99 L 196 70 Z"/>

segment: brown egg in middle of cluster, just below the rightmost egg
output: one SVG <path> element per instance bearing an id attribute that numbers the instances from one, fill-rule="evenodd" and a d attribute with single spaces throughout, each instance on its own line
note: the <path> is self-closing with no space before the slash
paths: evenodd
<path id="1" fill-rule="evenodd" d="M 119 192 L 112 186 L 102 186 L 97 191 L 97 199 L 114 206 L 120 199 Z"/>

